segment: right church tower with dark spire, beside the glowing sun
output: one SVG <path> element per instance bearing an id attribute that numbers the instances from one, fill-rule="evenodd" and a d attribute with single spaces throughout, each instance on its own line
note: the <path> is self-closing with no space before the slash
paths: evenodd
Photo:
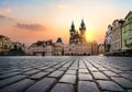
<path id="1" fill-rule="evenodd" d="M 86 42 L 86 26 L 84 19 L 81 20 L 79 31 L 80 31 L 80 42 Z"/>

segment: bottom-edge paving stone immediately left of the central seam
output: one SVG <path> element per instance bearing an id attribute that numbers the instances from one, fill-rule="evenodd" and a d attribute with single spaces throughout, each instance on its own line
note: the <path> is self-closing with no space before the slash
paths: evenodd
<path id="1" fill-rule="evenodd" d="M 66 83 L 57 83 L 51 92 L 74 92 L 74 85 Z"/>

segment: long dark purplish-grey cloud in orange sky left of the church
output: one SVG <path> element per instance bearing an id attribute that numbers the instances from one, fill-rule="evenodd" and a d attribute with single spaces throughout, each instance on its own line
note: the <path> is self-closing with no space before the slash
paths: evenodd
<path id="1" fill-rule="evenodd" d="M 21 30 L 30 30 L 30 31 L 43 31 L 45 27 L 41 24 L 24 24 L 24 23 L 16 23 L 15 27 Z"/>

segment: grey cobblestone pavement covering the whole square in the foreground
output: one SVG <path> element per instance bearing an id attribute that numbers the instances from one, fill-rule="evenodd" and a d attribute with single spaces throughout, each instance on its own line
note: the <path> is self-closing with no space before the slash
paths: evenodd
<path id="1" fill-rule="evenodd" d="M 0 92 L 132 92 L 132 57 L 0 57 Z"/>

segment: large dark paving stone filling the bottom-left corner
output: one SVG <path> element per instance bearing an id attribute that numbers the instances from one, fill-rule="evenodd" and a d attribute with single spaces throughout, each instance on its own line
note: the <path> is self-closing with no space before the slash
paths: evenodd
<path id="1" fill-rule="evenodd" d="M 4 89 L 1 89 L 0 92 L 23 92 L 26 88 L 29 88 L 33 83 L 34 83 L 33 80 L 24 79 L 22 81 L 6 87 Z"/>

